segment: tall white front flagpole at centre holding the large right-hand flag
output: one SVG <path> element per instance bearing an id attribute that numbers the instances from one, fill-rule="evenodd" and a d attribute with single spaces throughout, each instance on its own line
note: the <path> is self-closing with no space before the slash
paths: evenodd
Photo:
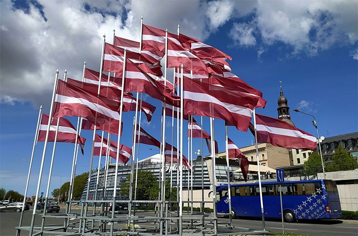
<path id="1" fill-rule="evenodd" d="M 184 98 L 183 98 L 183 72 L 184 67 L 183 64 L 181 66 L 182 69 L 182 77 L 181 77 L 181 97 L 180 97 L 180 185 L 179 185 L 179 235 L 183 235 L 183 106 L 184 106 Z"/>

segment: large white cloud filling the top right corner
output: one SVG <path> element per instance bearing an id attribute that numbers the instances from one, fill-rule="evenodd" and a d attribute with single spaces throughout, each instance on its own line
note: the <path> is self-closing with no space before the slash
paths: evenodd
<path id="1" fill-rule="evenodd" d="M 277 0 L 275 4 L 270 1 L 252 1 L 251 4 L 254 6 L 245 3 L 245 7 L 240 9 L 238 3 L 235 8 L 241 10 L 239 17 L 251 14 L 250 22 L 255 23 L 257 34 L 241 34 L 260 39 L 264 45 L 283 42 L 293 48 L 294 55 L 315 56 L 333 44 L 352 45 L 358 40 L 356 1 Z M 239 25 L 239 32 L 251 29 L 244 27 L 245 23 Z M 237 24 L 234 24 L 232 31 L 236 30 Z M 231 36 L 239 45 L 255 45 L 253 39 L 249 41 L 251 44 L 244 44 L 236 34 Z"/>

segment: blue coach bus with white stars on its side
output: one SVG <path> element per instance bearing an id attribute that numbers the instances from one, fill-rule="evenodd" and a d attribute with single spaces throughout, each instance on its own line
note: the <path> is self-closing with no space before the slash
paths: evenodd
<path id="1" fill-rule="evenodd" d="M 281 218 L 279 183 L 261 182 L 265 218 Z M 258 183 L 233 184 L 232 216 L 261 217 Z M 286 181 L 281 184 L 283 217 L 287 222 L 342 218 L 337 185 L 333 180 Z M 216 187 L 217 212 L 229 213 L 228 185 Z"/>

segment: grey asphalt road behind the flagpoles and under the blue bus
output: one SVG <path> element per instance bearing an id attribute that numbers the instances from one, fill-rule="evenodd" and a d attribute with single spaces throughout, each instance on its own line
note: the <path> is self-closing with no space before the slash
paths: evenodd
<path id="1" fill-rule="evenodd" d="M 63 213 L 64 209 L 61 208 Z M 73 209 L 72 213 L 79 214 L 79 209 Z M 92 211 L 92 208 L 90 209 Z M 50 213 L 49 215 L 56 215 L 57 213 Z M 41 213 L 36 212 L 35 225 L 41 224 Z M 137 213 L 137 215 L 153 215 L 153 213 Z M 32 207 L 29 211 L 24 213 L 23 226 L 30 226 L 32 217 Z M 20 213 L 16 212 L 3 212 L 0 213 L 0 235 L 2 236 L 12 236 L 15 235 L 16 229 L 20 219 Z M 74 220 L 76 221 L 76 220 Z M 222 221 L 229 221 L 229 219 L 220 219 Z M 63 219 L 47 218 L 46 225 L 49 224 L 58 224 L 63 223 Z M 239 227 L 251 228 L 256 230 L 262 229 L 261 219 L 234 219 L 233 224 Z M 145 226 L 145 223 L 140 223 L 139 225 Z M 265 221 L 266 230 L 269 230 L 274 233 L 282 233 L 282 223 L 280 220 L 266 220 Z M 348 221 L 348 220 L 321 220 L 321 221 L 301 221 L 297 223 L 284 223 L 285 232 L 294 232 L 297 234 L 307 233 L 310 236 L 350 236 L 358 235 L 358 221 Z M 21 231 L 21 235 L 29 235 L 28 231 Z"/>

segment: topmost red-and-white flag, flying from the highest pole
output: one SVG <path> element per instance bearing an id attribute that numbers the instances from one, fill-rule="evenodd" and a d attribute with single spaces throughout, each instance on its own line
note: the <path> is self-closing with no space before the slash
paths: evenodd
<path id="1" fill-rule="evenodd" d="M 165 53 L 165 34 L 166 32 L 164 30 L 143 24 L 142 49 L 149 51 L 162 51 Z M 181 43 L 177 40 L 177 35 L 168 32 L 168 39 L 173 41 L 175 44 L 181 45 Z"/>

